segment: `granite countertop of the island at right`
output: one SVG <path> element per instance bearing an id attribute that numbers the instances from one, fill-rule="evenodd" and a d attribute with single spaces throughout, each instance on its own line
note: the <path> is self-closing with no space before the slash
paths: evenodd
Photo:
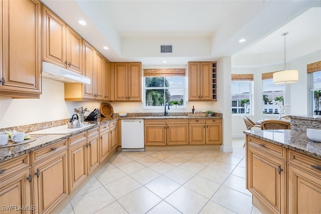
<path id="1" fill-rule="evenodd" d="M 245 130 L 245 134 L 321 159 L 321 143 L 309 140 L 305 132 L 295 130 Z"/>

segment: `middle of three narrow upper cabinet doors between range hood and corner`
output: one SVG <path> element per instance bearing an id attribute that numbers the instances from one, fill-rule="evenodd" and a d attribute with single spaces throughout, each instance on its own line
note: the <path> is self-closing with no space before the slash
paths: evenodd
<path id="1" fill-rule="evenodd" d="M 96 52 L 95 56 L 95 99 L 103 100 L 104 99 L 104 73 L 103 73 L 103 56 L 101 56 L 98 52 Z"/>

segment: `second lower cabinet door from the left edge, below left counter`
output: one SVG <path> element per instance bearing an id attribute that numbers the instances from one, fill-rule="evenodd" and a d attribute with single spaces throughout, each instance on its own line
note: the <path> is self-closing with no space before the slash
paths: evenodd
<path id="1" fill-rule="evenodd" d="M 68 195 L 67 150 L 32 169 L 35 213 L 51 212 Z"/>

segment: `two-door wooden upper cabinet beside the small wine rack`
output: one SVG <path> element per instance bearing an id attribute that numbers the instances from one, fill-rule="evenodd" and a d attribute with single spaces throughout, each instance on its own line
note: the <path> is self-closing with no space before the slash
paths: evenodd
<path id="1" fill-rule="evenodd" d="M 212 63 L 189 62 L 189 100 L 212 100 Z"/>

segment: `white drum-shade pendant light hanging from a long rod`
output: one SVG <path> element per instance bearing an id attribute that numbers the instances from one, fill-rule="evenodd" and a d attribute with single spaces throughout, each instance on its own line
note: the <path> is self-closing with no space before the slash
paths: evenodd
<path id="1" fill-rule="evenodd" d="M 297 70 L 286 70 L 286 35 L 288 35 L 288 32 L 282 34 L 282 36 L 284 36 L 284 71 L 275 72 L 273 74 L 273 84 L 297 83 L 299 79 Z"/>

